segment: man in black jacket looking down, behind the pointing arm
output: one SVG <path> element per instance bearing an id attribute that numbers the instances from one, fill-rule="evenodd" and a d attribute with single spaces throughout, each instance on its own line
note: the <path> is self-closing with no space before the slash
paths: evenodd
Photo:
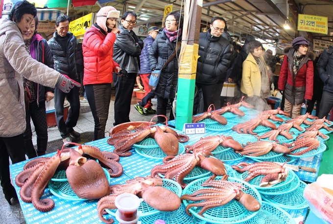
<path id="1" fill-rule="evenodd" d="M 69 32 L 70 18 L 62 15 L 55 21 L 56 31 L 48 41 L 53 55 L 54 69 L 71 79 L 78 81 L 75 65 L 76 37 Z M 71 105 L 66 122 L 64 121 L 65 97 Z M 54 89 L 54 109 L 57 126 L 64 142 L 72 142 L 73 138 L 79 138 L 80 133 L 75 132 L 80 113 L 79 89 L 74 87 L 70 92 L 64 93 L 59 88 Z M 66 146 L 68 146 L 67 144 Z"/>

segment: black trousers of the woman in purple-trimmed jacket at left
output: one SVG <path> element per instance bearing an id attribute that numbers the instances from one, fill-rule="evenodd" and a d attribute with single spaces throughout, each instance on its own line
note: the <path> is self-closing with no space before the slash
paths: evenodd
<path id="1" fill-rule="evenodd" d="M 37 154 L 32 143 L 32 132 L 30 125 L 30 118 L 35 126 L 37 135 Z M 34 158 L 37 156 L 45 155 L 48 145 L 48 123 L 46 121 L 45 101 L 39 102 L 33 101 L 29 104 L 29 109 L 25 111 L 26 129 L 23 134 L 26 155 L 28 158 Z"/>

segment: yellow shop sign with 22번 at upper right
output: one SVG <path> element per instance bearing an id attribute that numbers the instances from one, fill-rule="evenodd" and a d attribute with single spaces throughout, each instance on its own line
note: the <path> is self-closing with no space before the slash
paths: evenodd
<path id="1" fill-rule="evenodd" d="M 323 16 L 298 14 L 297 30 L 327 34 L 328 19 Z"/>

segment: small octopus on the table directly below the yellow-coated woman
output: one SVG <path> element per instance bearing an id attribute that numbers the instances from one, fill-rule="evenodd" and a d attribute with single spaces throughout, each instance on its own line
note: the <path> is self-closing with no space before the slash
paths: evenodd
<path id="1" fill-rule="evenodd" d="M 250 121 L 240 123 L 235 125 L 232 130 L 236 131 L 239 134 L 253 134 L 256 135 L 258 133 L 254 133 L 253 130 L 255 130 L 259 125 L 269 127 L 271 129 L 276 129 L 276 125 L 268 120 L 261 119 L 261 118 L 254 118 Z"/>

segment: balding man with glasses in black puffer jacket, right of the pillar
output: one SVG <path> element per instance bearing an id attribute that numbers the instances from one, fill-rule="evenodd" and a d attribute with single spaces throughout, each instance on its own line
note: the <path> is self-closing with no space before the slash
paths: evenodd
<path id="1" fill-rule="evenodd" d="M 196 81 L 198 89 L 202 90 L 204 111 L 209 105 L 214 104 L 220 108 L 219 96 L 221 88 L 218 87 L 219 78 L 225 73 L 230 65 L 232 50 L 230 43 L 222 37 L 226 23 L 221 17 L 214 17 L 210 29 L 200 33 L 199 37 L 199 59 L 196 70 Z M 194 102 L 198 101 L 196 96 Z M 217 100 L 218 99 L 218 100 Z M 193 113 L 196 114 L 197 104 L 194 105 Z"/>

